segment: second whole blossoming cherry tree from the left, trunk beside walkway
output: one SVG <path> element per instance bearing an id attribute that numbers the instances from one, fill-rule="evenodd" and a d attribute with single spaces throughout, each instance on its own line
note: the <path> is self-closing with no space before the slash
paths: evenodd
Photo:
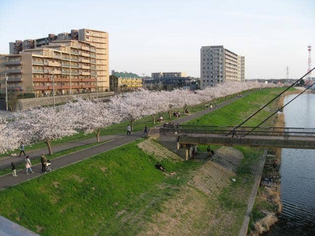
<path id="1" fill-rule="evenodd" d="M 119 122 L 120 117 L 105 102 L 82 98 L 77 100 L 67 103 L 65 110 L 75 114 L 73 122 L 76 128 L 84 130 L 85 134 L 94 133 L 98 143 L 101 129 Z"/>

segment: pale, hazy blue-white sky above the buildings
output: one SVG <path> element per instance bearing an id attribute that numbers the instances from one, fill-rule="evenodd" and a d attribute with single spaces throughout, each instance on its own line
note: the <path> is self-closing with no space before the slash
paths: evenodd
<path id="1" fill-rule="evenodd" d="M 83 28 L 109 33 L 110 71 L 140 76 L 200 77 L 209 45 L 245 56 L 246 79 L 285 78 L 286 66 L 300 78 L 310 44 L 315 66 L 315 0 L 0 0 L 0 54 L 17 39 Z"/>

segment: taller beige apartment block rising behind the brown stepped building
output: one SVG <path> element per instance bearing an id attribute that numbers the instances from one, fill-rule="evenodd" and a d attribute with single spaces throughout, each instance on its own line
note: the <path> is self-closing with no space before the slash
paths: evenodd
<path id="1" fill-rule="evenodd" d="M 109 91 L 109 57 L 108 33 L 95 29 L 71 29 L 70 33 L 64 32 L 48 34 L 48 37 L 38 39 L 16 40 L 9 43 L 10 54 L 19 54 L 24 50 L 37 49 L 61 41 L 82 41 L 96 48 L 96 75 L 98 91 Z"/>

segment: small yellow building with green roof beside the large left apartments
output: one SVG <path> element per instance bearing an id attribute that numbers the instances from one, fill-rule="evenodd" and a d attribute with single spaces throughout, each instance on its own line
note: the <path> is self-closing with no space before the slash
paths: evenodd
<path id="1" fill-rule="evenodd" d="M 112 91 L 127 91 L 142 88 L 142 78 L 134 73 L 114 72 L 110 77 Z"/>

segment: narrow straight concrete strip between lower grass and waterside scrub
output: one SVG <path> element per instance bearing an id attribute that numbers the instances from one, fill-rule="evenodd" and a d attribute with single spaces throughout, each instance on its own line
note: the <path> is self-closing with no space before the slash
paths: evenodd
<path id="1" fill-rule="evenodd" d="M 258 190 L 258 187 L 260 184 L 262 171 L 264 169 L 267 151 L 268 151 L 268 149 L 265 149 L 264 153 L 262 154 L 262 156 L 260 158 L 260 161 L 259 161 L 260 163 L 258 165 L 259 168 L 258 168 L 257 174 L 256 174 L 255 179 L 254 179 L 254 184 L 252 185 L 252 193 L 251 193 L 251 196 L 248 200 L 245 218 L 244 218 L 243 225 L 242 225 L 242 228 L 241 228 L 238 236 L 246 236 L 247 235 L 248 225 L 250 223 L 250 218 L 251 218 L 251 211 L 252 211 L 252 207 L 254 206 L 254 203 L 255 203 L 255 198 L 256 198 L 257 190 Z"/>

